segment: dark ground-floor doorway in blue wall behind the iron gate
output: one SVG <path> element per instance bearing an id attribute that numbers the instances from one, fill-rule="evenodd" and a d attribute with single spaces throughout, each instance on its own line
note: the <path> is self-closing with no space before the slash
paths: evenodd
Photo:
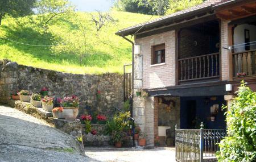
<path id="1" fill-rule="evenodd" d="M 187 128 L 195 128 L 195 119 L 196 119 L 196 101 L 189 100 L 187 101 Z"/>

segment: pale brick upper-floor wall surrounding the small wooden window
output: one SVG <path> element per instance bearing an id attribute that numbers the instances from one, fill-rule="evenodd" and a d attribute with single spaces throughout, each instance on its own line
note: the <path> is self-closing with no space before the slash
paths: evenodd
<path id="1" fill-rule="evenodd" d="M 151 67 L 151 47 L 163 43 L 166 46 L 166 63 Z M 143 57 L 142 87 L 151 89 L 175 86 L 175 31 L 136 39 L 136 44 L 141 45 Z"/>

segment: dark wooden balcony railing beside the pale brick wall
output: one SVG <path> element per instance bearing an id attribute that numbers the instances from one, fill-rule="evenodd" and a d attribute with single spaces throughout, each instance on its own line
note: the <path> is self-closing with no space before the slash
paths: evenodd
<path id="1" fill-rule="evenodd" d="M 179 59 L 178 65 L 179 81 L 217 78 L 220 76 L 218 53 Z"/>

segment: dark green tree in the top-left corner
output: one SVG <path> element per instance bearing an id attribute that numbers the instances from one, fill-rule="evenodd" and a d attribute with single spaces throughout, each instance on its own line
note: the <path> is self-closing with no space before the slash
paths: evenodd
<path id="1" fill-rule="evenodd" d="M 26 16 L 33 13 L 36 0 L 1 0 L 0 1 L 0 25 L 2 18 L 8 14 L 13 17 Z"/>

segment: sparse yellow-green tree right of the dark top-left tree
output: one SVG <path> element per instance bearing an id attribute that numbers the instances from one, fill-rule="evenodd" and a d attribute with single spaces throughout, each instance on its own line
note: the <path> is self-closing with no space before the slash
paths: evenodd
<path id="1" fill-rule="evenodd" d="M 45 30 L 55 16 L 71 13 L 74 10 L 68 0 L 39 0 L 36 6 Z"/>

